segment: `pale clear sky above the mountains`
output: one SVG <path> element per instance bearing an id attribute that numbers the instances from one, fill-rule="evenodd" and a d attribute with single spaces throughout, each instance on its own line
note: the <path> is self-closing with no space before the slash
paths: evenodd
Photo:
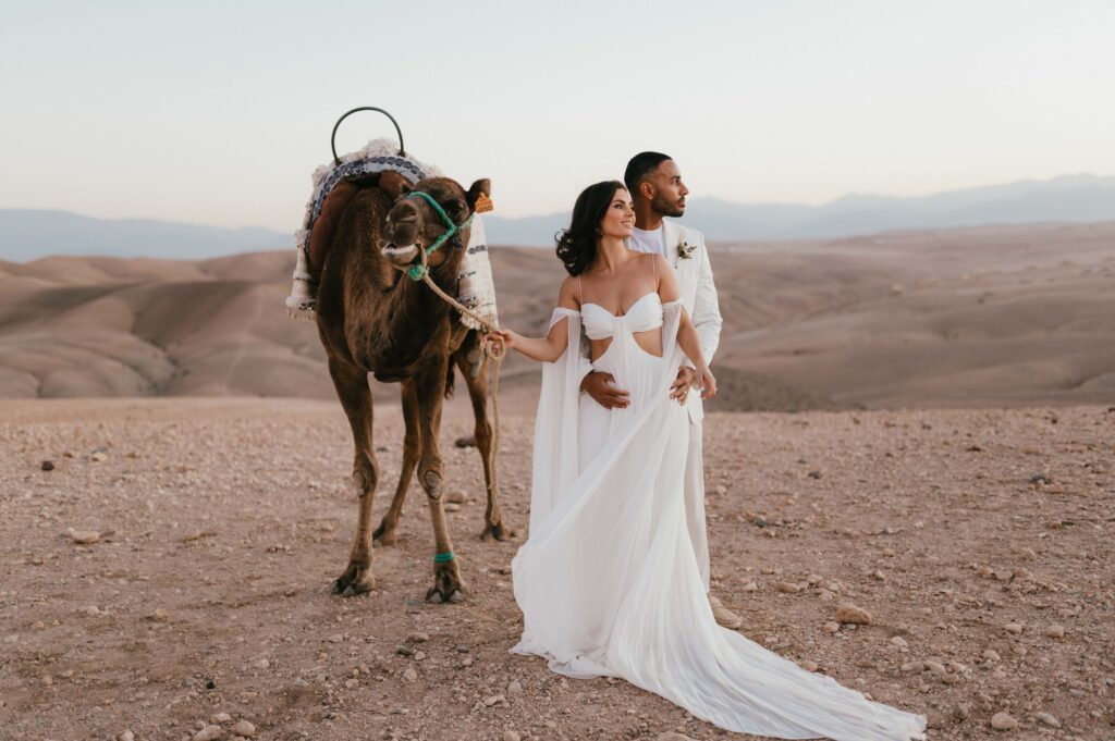
<path id="1" fill-rule="evenodd" d="M 1111 0 L 4 2 L 0 208 L 290 231 L 359 105 L 504 216 L 642 149 L 740 202 L 1113 175 L 1113 39 Z"/>

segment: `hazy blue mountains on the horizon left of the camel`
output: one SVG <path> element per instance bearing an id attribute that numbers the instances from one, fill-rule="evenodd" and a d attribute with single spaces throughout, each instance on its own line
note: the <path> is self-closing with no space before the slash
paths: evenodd
<path id="1" fill-rule="evenodd" d="M 0 208 L 0 260 L 105 255 L 181 260 L 294 246 L 292 233 L 153 220 L 106 220 L 67 211 Z"/>

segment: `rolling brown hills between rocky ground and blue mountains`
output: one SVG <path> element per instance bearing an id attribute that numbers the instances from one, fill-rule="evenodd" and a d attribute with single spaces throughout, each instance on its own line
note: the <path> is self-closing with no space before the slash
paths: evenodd
<path id="1" fill-rule="evenodd" d="M 709 410 L 1115 403 L 1113 247 L 1115 222 L 718 244 Z M 287 318 L 293 264 L 0 260 L 0 398 L 334 399 L 317 325 Z M 544 333 L 558 260 L 496 247 L 492 267 L 501 323 Z M 533 410 L 540 378 L 512 353 L 501 407 Z"/>

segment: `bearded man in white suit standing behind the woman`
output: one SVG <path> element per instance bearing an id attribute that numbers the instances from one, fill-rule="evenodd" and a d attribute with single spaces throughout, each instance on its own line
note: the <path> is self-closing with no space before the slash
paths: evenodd
<path id="1" fill-rule="evenodd" d="M 686 195 L 689 188 L 681 182 L 677 163 L 658 152 L 642 152 L 628 163 L 623 182 L 634 204 L 636 227 L 631 235 L 631 248 L 638 252 L 657 252 L 673 265 L 681 289 L 681 301 L 697 328 L 701 351 L 708 362 L 720 342 L 720 308 L 717 304 L 716 286 L 712 284 L 712 269 L 705 248 L 705 235 L 696 230 L 668 222 L 663 216 L 678 217 L 686 212 Z M 581 360 L 581 390 L 597 403 L 612 409 L 627 407 L 628 393 L 615 388 L 611 373 L 592 370 L 588 358 Z M 700 393 L 692 388 L 696 370 L 691 364 L 678 369 L 678 377 L 670 389 L 670 398 L 677 399 L 689 412 L 692 426 L 689 435 L 689 455 L 686 459 L 686 518 L 689 535 L 696 550 L 705 591 L 708 592 L 708 536 L 705 529 L 705 474 L 701 452 L 701 420 L 705 417 Z M 737 628 L 739 617 L 709 595 L 709 604 L 716 622 L 725 627 Z"/>

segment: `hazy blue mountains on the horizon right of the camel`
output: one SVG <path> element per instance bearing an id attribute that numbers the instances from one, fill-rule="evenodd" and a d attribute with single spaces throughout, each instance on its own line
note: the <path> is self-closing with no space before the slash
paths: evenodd
<path id="1" fill-rule="evenodd" d="M 692 198 L 685 215 L 686 223 L 716 241 L 832 238 L 908 228 L 1111 220 L 1115 220 L 1115 177 L 1086 174 L 915 198 L 847 195 L 823 206 Z M 550 246 L 554 232 L 569 225 L 569 216 L 493 215 L 484 224 L 492 244 Z"/>

